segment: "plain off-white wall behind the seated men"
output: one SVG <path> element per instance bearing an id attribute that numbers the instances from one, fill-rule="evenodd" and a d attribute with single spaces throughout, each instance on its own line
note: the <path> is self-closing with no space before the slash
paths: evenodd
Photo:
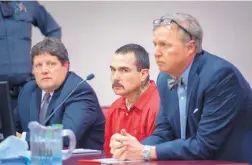
<path id="1" fill-rule="evenodd" d="M 101 105 L 116 96 L 111 89 L 113 52 L 138 43 L 150 52 L 151 78 L 158 70 L 153 57 L 152 21 L 166 13 L 195 16 L 204 30 L 203 48 L 234 63 L 252 82 L 252 2 L 41 2 L 62 26 L 71 70 L 96 75 L 93 86 Z M 33 31 L 33 44 L 42 36 Z"/>

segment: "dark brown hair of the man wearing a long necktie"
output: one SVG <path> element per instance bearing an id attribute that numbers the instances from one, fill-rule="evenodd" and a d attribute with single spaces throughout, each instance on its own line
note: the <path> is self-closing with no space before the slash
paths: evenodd
<path id="1" fill-rule="evenodd" d="M 31 49 L 32 63 L 33 58 L 42 53 L 49 53 L 52 56 L 56 56 L 62 64 L 69 63 L 67 49 L 60 39 L 45 37 L 42 41 L 34 45 Z"/>

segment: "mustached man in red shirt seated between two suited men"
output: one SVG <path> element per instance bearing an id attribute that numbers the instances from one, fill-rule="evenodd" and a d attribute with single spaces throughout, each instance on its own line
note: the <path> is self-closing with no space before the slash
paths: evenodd
<path id="1" fill-rule="evenodd" d="M 149 68 L 149 54 L 140 45 L 124 45 L 113 55 L 112 88 L 121 97 L 108 110 L 104 143 L 107 156 L 110 156 L 111 136 L 121 129 L 138 140 L 151 135 L 155 129 L 160 98 L 155 82 L 149 79 Z"/>

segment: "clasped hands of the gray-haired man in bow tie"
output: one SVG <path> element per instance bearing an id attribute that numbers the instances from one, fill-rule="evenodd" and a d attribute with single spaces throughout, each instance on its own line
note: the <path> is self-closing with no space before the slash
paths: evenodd
<path id="1" fill-rule="evenodd" d="M 127 133 L 125 129 L 111 137 L 109 146 L 113 158 L 120 160 L 143 159 L 144 145 L 134 136 Z"/>

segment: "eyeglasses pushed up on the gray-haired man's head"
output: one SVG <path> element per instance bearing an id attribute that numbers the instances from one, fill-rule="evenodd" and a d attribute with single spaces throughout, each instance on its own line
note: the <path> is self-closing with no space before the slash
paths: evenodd
<path id="1" fill-rule="evenodd" d="M 160 25 L 171 25 L 172 23 L 175 23 L 180 29 L 186 32 L 189 35 L 190 40 L 193 39 L 193 35 L 188 30 L 186 30 L 183 26 L 181 26 L 177 21 L 173 19 L 162 17 L 160 19 L 155 19 L 153 21 L 154 27 L 158 27 Z"/>

